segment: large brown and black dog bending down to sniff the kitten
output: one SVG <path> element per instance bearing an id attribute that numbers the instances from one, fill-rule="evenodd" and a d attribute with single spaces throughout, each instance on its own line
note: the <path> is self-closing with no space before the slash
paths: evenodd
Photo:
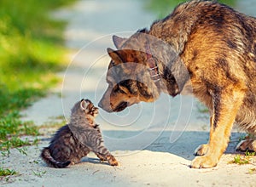
<path id="1" fill-rule="evenodd" d="M 163 47 L 158 39 L 172 49 Z M 189 83 L 195 97 L 209 108 L 210 139 L 196 150 L 191 167 L 218 164 L 234 122 L 256 134 L 253 17 L 223 4 L 196 0 L 177 6 L 149 30 L 137 31 L 127 39 L 113 37 L 113 42 L 119 50 L 108 48 L 112 61 L 108 90 L 99 104 L 102 109 L 122 111 L 140 101 L 152 102 L 160 92 L 175 96 Z M 246 140 L 239 148 L 256 151 L 256 140 Z"/>

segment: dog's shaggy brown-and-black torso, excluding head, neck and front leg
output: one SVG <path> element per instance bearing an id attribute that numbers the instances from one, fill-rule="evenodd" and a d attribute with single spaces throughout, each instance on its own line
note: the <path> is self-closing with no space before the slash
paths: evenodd
<path id="1" fill-rule="evenodd" d="M 236 122 L 250 133 L 256 133 L 255 18 L 224 4 L 191 1 L 154 22 L 148 34 L 175 48 L 189 71 L 193 94 L 211 111 L 214 90 L 231 84 L 244 90 L 246 94 Z M 183 76 L 175 73 L 176 79 Z"/>

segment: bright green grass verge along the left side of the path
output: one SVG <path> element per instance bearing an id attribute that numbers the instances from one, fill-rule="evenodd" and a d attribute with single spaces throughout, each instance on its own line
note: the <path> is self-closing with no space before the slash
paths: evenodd
<path id="1" fill-rule="evenodd" d="M 55 72 L 67 63 L 65 23 L 49 13 L 74 1 L 0 1 L 0 150 L 33 144 L 20 136 L 38 135 L 32 122 L 20 121 L 20 110 L 59 82 Z"/>

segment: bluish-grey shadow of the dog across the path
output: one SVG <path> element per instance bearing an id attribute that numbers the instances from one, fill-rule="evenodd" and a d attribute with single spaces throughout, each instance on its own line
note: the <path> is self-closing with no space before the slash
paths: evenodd
<path id="1" fill-rule="evenodd" d="M 123 135 L 129 134 L 129 132 L 104 132 L 109 137 L 109 134 L 117 134 L 117 136 L 122 137 Z M 133 132 L 134 133 L 134 132 Z M 119 135 L 118 135 L 119 134 Z M 132 133 L 131 133 L 132 134 Z M 176 134 L 177 137 L 173 139 L 173 134 Z M 245 133 L 232 133 L 230 137 L 230 144 L 225 151 L 225 153 L 233 154 L 236 152 L 236 144 L 238 144 L 239 139 L 244 136 Z M 174 137 L 176 136 L 174 135 Z M 148 137 L 145 137 L 148 139 Z M 141 141 L 145 141 L 145 139 L 141 139 Z M 149 139 L 144 144 L 144 147 L 141 146 L 141 150 L 151 150 L 157 152 L 168 152 L 170 154 L 181 156 L 187 160 L 193 160 L 195 149 L 201 144 L 207 144 L 209 139 L 208 132 L 198 132 L 198 131 L 185 131 L 185 132 L 172 132 L 165 131 L 160 133 L 160 136 L 156 139 Z M 151 140 L 151 142 L 150 142 Z M 127 139 L 127 144 L 119 144 L 119 140 L 116 139 L 112 141 L 107 139 L 107 146 L 109 150 L 138 150 L 137 144 L 141 144 L 141 142 L 129 142 L 130 139 Z M 147 144 L 148 143 L 148 144 Z M 143 144 L 143 143 L 142 143 Z"/>

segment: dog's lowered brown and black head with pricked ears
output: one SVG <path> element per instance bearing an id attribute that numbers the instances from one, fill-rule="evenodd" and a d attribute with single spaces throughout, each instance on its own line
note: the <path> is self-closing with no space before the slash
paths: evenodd
<path id="1" fill-rule="evenodd" d="M 124 46 L 133 48 L 131 45 L 141 45 L 143 48 L 143 42 L 138 43 L 133 39 L 114 36 L 113 43 L 119 50 L 108 48 L 111 57 L 107 73 L 108 89 L 99 103 L 105 111 L 123 111 L 140 101 L 153 102 L 160 95 L 148 72 L 147 54 L 140 50 L 122 49 Z"/>

